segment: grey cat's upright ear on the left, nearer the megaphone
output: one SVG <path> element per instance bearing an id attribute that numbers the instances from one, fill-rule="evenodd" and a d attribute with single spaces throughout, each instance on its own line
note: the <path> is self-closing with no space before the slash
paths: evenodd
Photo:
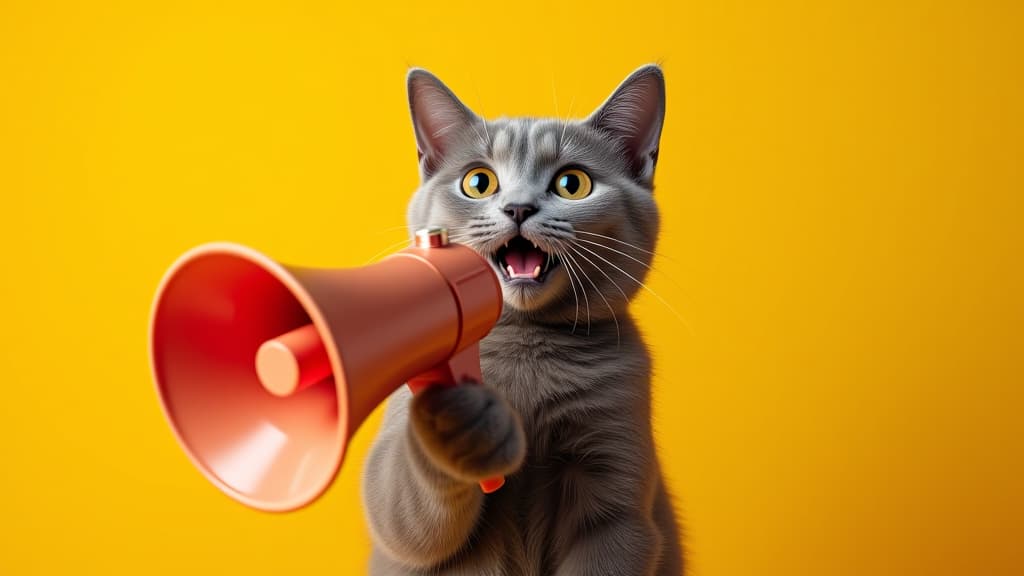
<path id="1" fill-rule="evenodd" d="M 416 149 L 424 174 L 432 173 L 465 129 L 480 119 L 436 76 L 426 70 L 409 71 L 409 110 L 416 130 Z"/>

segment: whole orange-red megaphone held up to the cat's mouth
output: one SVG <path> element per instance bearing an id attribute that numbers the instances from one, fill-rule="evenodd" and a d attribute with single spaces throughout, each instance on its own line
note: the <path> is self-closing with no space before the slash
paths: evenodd
<path id="1" fill-rule="evenodd" d="M 501 307 L 490 265 L 441 230 L 359 269 L 207 244 L 158 290 L 154 379 L 204 476 L 250 506 L 294 509 L 330 486 L 348 439 L 402 383 L 479 381 L 477 342 Z"/>

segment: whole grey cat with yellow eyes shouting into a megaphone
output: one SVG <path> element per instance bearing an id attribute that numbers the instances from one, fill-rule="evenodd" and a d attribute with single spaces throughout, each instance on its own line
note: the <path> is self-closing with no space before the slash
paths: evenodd
<path id="1" fill-rule="evenodd" d="M 486 257 L 505 310 L 480 343 L 482 385 L 389 400 L 362 485 L 371 574 L 682 574 L 627 310 L 658 231 L 660 69 L 570 122 L 486 121 L 423 70 L 408 84 L 422 182 L 409 225 Z"/>

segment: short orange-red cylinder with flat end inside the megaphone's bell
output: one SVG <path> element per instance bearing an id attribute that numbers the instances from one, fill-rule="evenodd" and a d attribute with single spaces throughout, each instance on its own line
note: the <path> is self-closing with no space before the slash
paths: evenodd
<path id="1" fill-rule="evenodd" d="M 316 327 L 306 324 L 263 342 L 256 352 L 256 374 L 274 396 L 291 396 L 331 375 L 331 359 Z"/>

